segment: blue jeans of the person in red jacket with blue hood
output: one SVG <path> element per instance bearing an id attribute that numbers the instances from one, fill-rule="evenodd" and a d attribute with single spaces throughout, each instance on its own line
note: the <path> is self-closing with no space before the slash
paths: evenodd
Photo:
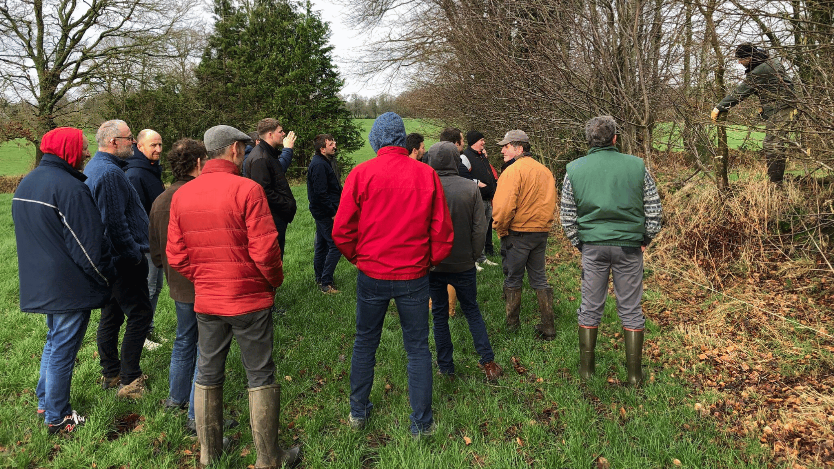
<path id="1" fill-rule="evenodd" d="M 377 280 L 361 270 L 356 279 L 356 340 L 350 359 L 350 413 L 364 419 L 374 407 L 369 401 L 374 384 L 376 349 L 389 300 L 399 311 L 403 345 L 409 357 L 411 432 L 428 431 L 431 413 L 431 352 L 429 351 L 429 277 L 415 280 Z"/>

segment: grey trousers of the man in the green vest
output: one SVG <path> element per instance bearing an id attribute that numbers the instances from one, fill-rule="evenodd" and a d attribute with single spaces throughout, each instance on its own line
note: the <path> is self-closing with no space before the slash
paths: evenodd
<path id="1" fill-rule="evenodd" d="M 627 330 L 643 330 L 646 318 L 640 305 L 643 297 L 643 252 L 620 246 L 582 246 L 582 302 L 579 325 L 597 327 L 602 322 L 608 277 L 613 274 L 617 315 Z"/>

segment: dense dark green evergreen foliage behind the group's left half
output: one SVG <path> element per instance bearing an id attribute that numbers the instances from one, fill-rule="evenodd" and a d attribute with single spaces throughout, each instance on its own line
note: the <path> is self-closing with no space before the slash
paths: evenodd
<path id="1" fill-rule="evenodd" d="M 342 154 L 361 147 L 359 127 L 339 98 L 343 81 L 331 58 L 329 26 L 310 3 L 216 0 L 214 16 L 191 79 L 158 76 L 153 87 L 112 99 L 112 117 L 158 130 L 166 146 L 201 138 L 216 124 L 250 132 L 272 117 L 297 134 L 299 167 L 308 164 L 317 134 L 333 134 Z"/>

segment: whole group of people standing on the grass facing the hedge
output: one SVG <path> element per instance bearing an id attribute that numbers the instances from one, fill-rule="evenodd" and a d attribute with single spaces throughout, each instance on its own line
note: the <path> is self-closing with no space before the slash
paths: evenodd
<path id="1" fill-rule="evenodd" d="M 590 379 L 594 372 L 595 330 L 613 271 L 630 354 L 628 379 L 639 385 L 642 252 L 660 229 L 660 199 L 642 159 L 616 152 L 610 116 L 591 119 L 585 134 L 590 154 L 568 165 L 560 208 L 566 235 L 583 253 L 580 376 Z M 102 309 L 97 338 L 103 389 L 118 388 L 119 397 L 133 399 L 147 391 L 139 358 L 153 320 L 149 292 L 156 285 L 157 295 L 161 290 L 156 269 L 168 279 L 177 313 L 163 406 L 188 408 L 201 463 L 219 457 L 228 444 L 224 428 L 236 425 L 223 416 L 224 364 L 233 337 L 248 379 L 255 467 L 300 461 L 298 447 L 284 451 L 278 445 L 280 385 L 273 360 L 274 293 L 284 281 L 284 233 L 297 211 L 285 176 L 294 134 L 285 134 L 275 119 L 263 119 L 256 137 L 219 125 L 208 129 L 202 142 L 178 140 L 168 153 L 175 182 L 165 189 L 156 184 L 162 142 L 153 130 L 140 132 L 134 148 L 128 124 L 105 122 L 96 135 L 98 152 L 83 173 L 89 153 L 81 130 L 44 135 L 43 159 L 18 187 L 13 219 L 21 308 L 47 315 L 38 413 L 50 433 L 83 424 L 69 404 L 69 384 L 95 308 Z M 486 257 L 494 254 L 486 242 L 490 229 L 500 237 L 506 325 L 520 326 L 526 270 L 540 308 L 535 332 L 544 340 L 557 334 L 553 289 L 545 275 L 556 208 L 550 169 L 532 158 L 530 139 L 521 130 L 497 142 L 505 161 L 500 177 L 480 132 L 466 135 L 467 146 L 459 129 L 446 129 L 440 140 L 426 150 L 420 135 L 405 133 L 398 115 L 384 113 L 369 133 L 376 157 L 357 165 L 343 187 L 334 137 L 314 139 L 307 187 L 319 290 L 339 293 L 333 275 L 341 255 L 358 268 L 353 428 L 364 426 L 374 407 L 369 396 L 375 354 L 392 299 L 409 360 L 414 437 L 435 428 L 430 313 L 440 376 L 456 376 L 450 287 L 486 378 L 501 376 L 477 301 L 477 270 L 497 265 Z M 140 154 L 145 161 L 132 160 Z M 125 320 L 119 356 L 118 331 Z"/>

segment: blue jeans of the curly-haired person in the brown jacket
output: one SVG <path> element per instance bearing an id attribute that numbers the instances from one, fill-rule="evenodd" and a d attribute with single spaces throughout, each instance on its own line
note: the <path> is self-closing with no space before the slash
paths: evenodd
<path id="1" fill-rule="evenodd" d="M 177 337 L 173 340 L 168 369 L 168 397 L 179 405 L 191 401 L 197 367 L 197 314 L 193 303 L 173 302 L 177 310 Z M 189 413 L 193 412 L 189 408 Z"/>

